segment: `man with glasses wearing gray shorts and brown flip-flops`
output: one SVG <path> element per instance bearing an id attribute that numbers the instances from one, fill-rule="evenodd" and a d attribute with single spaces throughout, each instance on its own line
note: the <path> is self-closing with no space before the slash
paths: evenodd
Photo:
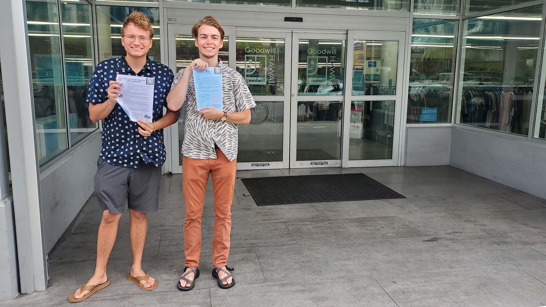
<path id="1" fill-rule="evenodd" d="M 102 151 L 94 178 L 95 196 L 103 210 L 97 238 L 97 263 L 94 275 L 70 294 L 70 302 L 81 302 L 108 286 L 106 263 L 117 235 L 118 221 L 127 201 L 130 215 L 132 268 L 127 279 L 144 291 L 157 287 L 157 281 L 145 273 L 141 260 L 146 240 L 146 214 L 157 211 L 161 166 L 165 162 L 163 128 L 178 121 L 179 112 L 167 109 L 167 95 L 173 72 L 146 55 L 152 47 L 153 28 L 143 14 L 133 11 L 121 28 L 121 44 L 126 55 L 100 62 L 87 91 L 89 116 L 93 122 L 104 119 Z M 150 123 L 132 122 L 117 104 L 121 85 L 116 75 L 133 75 L 153 79 L 153 115 Z"/>

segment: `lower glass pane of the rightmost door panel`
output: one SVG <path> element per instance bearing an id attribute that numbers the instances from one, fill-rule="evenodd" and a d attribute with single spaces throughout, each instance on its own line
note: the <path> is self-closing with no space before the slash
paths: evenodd
<path id="1" fill-rule="evenodd" d="M 349 160 L 393 159 L 395 101 L 351 101 Z"/>

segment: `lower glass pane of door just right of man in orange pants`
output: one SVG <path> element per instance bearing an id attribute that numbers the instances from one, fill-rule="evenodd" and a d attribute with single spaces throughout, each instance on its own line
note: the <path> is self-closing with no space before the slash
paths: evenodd
<path id="1" fill-rule="evenodd" d="M 256 101 L 249 125 L 239 125 L 237 162 L 282 161 L 284 101 Z"/>

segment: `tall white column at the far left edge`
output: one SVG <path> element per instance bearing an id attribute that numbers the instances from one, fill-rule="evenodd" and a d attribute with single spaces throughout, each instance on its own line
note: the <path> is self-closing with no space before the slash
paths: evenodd
<path id="1" fill-rule="evenodd" d="M 21 293 L 45 290 L 46 262 L 41 220 L 34 105 L 25 2 L 6 0 L 0 10 L 0 54 L 10 151 L 11 182 Z"/>

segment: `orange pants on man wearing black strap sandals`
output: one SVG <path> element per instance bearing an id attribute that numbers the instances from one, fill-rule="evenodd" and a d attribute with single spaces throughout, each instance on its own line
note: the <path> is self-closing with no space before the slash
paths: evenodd
<path id="1" fill-rule="evenodd" d="M 220 149 L 216 149 L 216 156 L 217 159 L 193 159 L 187 156 L 182 159 L 182 192 L 186 202 L 186 218 L 184 219 L 186 267 L 199 266 L 201 214 L 209 173 L 212 175 L 214 192 L 212 262 L 217 268 L 225 266 L 228 261 L 237 160 L 229 161 Z"/>

